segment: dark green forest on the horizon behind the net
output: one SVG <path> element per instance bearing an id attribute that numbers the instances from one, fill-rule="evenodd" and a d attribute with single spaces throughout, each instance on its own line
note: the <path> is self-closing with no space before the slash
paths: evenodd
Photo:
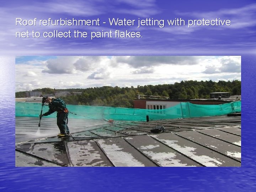
<path id="1" fill-rule="evenodd" d="M 54 94 L 56 91 L 69 91 L 71 94 L 62 97 L 68 105 L 90 105 L 108 107 L 133 107 L 137 95 L 154 95 L 171 99 L 209 98 L 210 92 L 230 92 L 230 95 L 241 95 L 241 81 L 181 81 L 174 84 L 144 85 L 137 87 L 92 87 L 86 89 L 35 89 L 42 94 Z M 82 92 L 74 95 L 72 92 Z M 26 97 L 26 91 L 16 92 L 16 98 Z"/>

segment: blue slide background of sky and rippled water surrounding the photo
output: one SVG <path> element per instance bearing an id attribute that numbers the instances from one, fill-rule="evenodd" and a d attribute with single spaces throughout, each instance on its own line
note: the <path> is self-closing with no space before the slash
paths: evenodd
<path id="1" fill-rule="evenodd" d="M 1 1 L 0 191 L 255 191 L 255 10 L 254 1 L 248 0 Z M 15 38 L 16 31 L 28 28 L 15 26 L 16 17 L 186 20 L 204 16 L 230 19 L 234 26 L 98 27 L 141 30 L 140 39 Z M 15 167 L 16 55 L 241 55 L 242 166 Z"/>

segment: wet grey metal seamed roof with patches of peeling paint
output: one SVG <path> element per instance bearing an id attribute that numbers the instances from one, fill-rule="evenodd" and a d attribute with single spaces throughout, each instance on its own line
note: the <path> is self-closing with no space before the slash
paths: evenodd
<path id="1" fill-rule="evenodd" d="M 38 133 L 38 118 L 16 118 L 16 166 L 241 166 L 241 116 L 69 119 L 69 138 L 54 136 L 56 119 L 43 120 Z M 166 131 L 150 132 L 159 126 Z"/>

